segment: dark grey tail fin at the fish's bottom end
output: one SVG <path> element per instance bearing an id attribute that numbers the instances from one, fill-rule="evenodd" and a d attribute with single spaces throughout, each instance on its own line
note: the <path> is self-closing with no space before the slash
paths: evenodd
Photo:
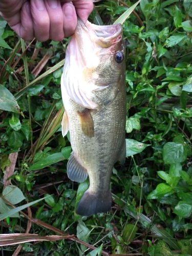
<path id="1" fill-rule="evenodd" d="M 76 214 L 91 216 L 99 212 L 106 212 L 111 209 L 112 196 L 111 190 L 105 194 L 96 195 L 90 193 L 89 189 L 83 194 L 76 208 Z"/>

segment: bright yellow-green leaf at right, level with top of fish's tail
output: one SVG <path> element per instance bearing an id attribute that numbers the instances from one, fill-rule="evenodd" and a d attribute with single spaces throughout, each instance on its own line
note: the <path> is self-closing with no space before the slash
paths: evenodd
<path id="1" fill-rule="evenodd" d="M 173 194 L 174 190 L 172 187 L 164 184 L 164 183 L 160 183 L 157 185 L 156 189 L 153 190 L 148 196 L 147 199 L 157 199 L 157 198 L 161 198 L 163 196 L 167 196 L 170 194 Z"/>

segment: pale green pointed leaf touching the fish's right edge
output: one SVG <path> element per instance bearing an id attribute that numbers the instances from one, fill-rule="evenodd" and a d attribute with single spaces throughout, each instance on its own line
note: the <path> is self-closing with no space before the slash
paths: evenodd
<path id="1" fill-rule="evenodd" d="M 142 152 L 145 147 L 149 146 L 148 144 L 144 144 L 132 139 L 125 139 L 126 141 L 126 157 L 133 156 Z"/>

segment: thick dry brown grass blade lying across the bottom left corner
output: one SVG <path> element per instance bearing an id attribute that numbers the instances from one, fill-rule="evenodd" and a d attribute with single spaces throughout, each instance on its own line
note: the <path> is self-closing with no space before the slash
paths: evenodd
<path id="1" fill-rule="evenodd" d="M 72 236 L 39 236 L 38 234 L 0 234 L 0 246 L 8 246 L 20 243 L 28 243 L 33 241 L 57 241 L 60 239 L 69 239 Z"/>

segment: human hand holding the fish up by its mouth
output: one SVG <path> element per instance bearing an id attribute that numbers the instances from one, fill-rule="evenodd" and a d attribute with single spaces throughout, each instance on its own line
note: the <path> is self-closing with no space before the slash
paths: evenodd
<path id="1" fill-rule="evenodd" d="M 0 14 L 23 39 L 60 41 L 71 36 L 77 15 L 86 23 L 92 0 L 1 0 Z"/>

